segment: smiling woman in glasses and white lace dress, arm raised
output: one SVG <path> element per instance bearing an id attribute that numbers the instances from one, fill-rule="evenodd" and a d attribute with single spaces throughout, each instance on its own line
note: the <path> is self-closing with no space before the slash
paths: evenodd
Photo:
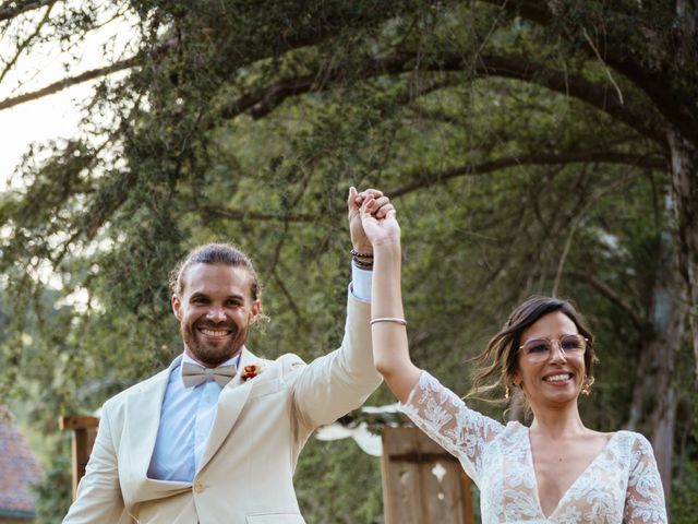
<path id="1" fill-rule="evenodd" d="M 466 406 L 408 352 L 400 293 L 400 229 L 395 211 L 363 228 L 373 245 L 373 355 L 401 409 L 460 461 L 480 489 L 483 523 L 665 523 L 650 443 L 639 433 L 583 426 L 577 401 L 592 379 L 593 338 L 574 307 L 534 297 L 519 306 L 483 353 L 480 379 L 520 388 L 530 428 L 506 426 Z M 496 386 L 496 384 L 494 384 Z"/>

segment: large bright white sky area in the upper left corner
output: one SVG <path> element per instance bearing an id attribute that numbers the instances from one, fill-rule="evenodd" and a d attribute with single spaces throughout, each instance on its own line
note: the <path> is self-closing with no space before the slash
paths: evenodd
<path id="1" fill-rule="evenodd" d="M 51 14 L 59 15 L 60 9 L 60 5 L 56 7 Z M 0 36 L 0 69 L 3 69 L 4 62 L 13 55 L 11 33 L 32 31 L 44 13 L 44 9 L 28 13 Z M 36 91 L 65 76 L 107 66 L 111 63 L 112 55 L 110 51 L 110 56 L 106 56 L 103 44 L 113 43 L 112 48 L 119 50 L 132 37 L 130 24 L 118 19 L 80 43 L 71 57 L 61 52 L 56 44 L 31 47 L 0 82 L 0 100 Z M 32 142 L 46 143 L 56 139 L 69 139 L 79 133 L 80 106 L 89 97 L 96 82 L 79 84 L 53 95 L 0 110 L 0 191 L 21 186 L 21 180 L 13 177 L 13 174 Z"/>

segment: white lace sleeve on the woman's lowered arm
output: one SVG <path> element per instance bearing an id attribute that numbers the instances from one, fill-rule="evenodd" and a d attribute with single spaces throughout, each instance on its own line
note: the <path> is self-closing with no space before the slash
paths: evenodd
<path id="1" fill-rule="evenodd" d="M 665 524 L 664 490 L 657 469 L 652 445 L 641 434 L 633 444 L 630 477 L 625 496 L 625 522 Z"/>

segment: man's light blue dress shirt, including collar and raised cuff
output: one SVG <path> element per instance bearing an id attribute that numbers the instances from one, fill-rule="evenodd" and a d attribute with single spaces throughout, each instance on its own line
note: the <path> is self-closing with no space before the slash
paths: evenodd
<path id="1" fill-rule="evenodd" d="M 349 287 L 359 300 L 371 300 L 372 272 L 351 264 L 352 285 Z M 240 354 L 221 364 L 238 366 Z M 207 380 L 193 388 L 184 388 L 182 364 L 196 362 L 184 353 L 170 365 L 170 377 L 165 390 L 160 425 L 148 467 L 148 478 L 191 483 L 208 441 L 216 419 L 218 396 L 222 386 Z"/>

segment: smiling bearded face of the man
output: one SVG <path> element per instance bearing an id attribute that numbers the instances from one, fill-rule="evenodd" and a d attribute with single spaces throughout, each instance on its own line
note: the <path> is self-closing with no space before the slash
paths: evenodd
<path id="1" fill-rule="evenodd" d="M 204 366 L 218 366 L 240 352 L 260 313 L 252 277 L 244 267 L 196 263 L 183 284 L 171 301 L 186 353 Z"/>

